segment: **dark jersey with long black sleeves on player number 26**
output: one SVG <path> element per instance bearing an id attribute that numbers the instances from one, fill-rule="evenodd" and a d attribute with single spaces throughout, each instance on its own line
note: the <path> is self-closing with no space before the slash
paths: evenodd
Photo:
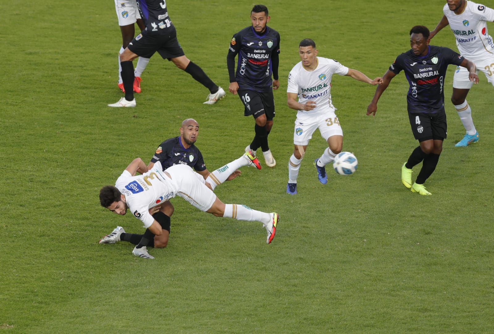
<path id="1" fill-rule="evenodd" d="M 266 92 L 271 89 L 271 74 L 278 80 L 280 34 L 266 26 L 262 35 L 257 35 L 252 26 L 233 35 L 228 49 L 227 66 L 230 82 L 237 82 L 239 89 Z M 237 71 L 235 72 L 235 57 Z"/>

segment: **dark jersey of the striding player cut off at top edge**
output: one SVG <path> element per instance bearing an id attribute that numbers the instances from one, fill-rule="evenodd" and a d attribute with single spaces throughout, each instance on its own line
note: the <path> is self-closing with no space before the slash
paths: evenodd
<path id="1" fill-rule="evenodd" d="M 165 0 L 137 0 L 141 18 L 146 24 L 145 34 L 169 34 L 175 30 L 166 10 Z"/>

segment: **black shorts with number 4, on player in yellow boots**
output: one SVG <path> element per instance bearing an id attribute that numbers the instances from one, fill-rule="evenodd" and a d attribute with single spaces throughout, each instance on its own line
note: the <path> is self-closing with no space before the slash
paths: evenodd
<path id="1" fill-rule="evenodd" d="M 429 139 L 446 139 L 448 126 L 446 125 L 446 112 L 435 114 L 408 114 L 410 125 L 415 139 L 422 142 Z"/>

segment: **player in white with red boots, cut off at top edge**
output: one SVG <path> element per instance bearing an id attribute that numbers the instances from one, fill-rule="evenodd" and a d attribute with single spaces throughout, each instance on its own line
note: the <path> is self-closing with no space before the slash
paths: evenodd
<path id="1" fill-rule="evenodd" d="M 128 43 L 134 39 L 135 30 L 134 23 L 137 23 L 140 31 L 144 30 L 146 26 L 142 21 L 139 14 L 139 8 L 137 8 L 136 0 L 115 0 L 115 10 L 117 11 L 117 17 L 119 19 L 120 31 L 122 32 L 122 46 L 119 51 L 119 82 L 118 86 L 120 90 L 124 91 L 124 82 L 122 81 L 122 66 L 120 66 L 120 54 L 124 52 Z M 146 69 L 149 63 L 149 58 L 139 57 L 137 60 L 137 66 L 134 71 L 134 91 L 136 93 L 141 92 L 141 75 Z"/>

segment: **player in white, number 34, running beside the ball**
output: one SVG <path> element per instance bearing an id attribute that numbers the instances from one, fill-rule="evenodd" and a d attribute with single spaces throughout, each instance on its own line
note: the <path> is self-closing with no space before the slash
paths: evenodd
<path id="1" fill-rule="evenodd" d="M 369 79 L 365 74 L 349 69 L 336 60 L 317 57 L 316 43 L 311 39 L 302 40 L 298 46 L 301 62 L 296 64 L 288 75 L 288 107 L 297 110 L 293 132 L 293 154 L 288 161 L 287 193 L 297 193 L 297 175 L 300 163 L 312 138 L 319 129 L 328 142 L 328 149 L 314 160 L 317 176 L 322 184 L 328 182 L 325 165 L 334 160 L 343 146 L 343 131 L 331 101 L 331 77 L 334 73 L 352 77 L 372 85 L 381 83 L 381 78 Z M 297 101 L 298 97 L 298 101 Z"/>

